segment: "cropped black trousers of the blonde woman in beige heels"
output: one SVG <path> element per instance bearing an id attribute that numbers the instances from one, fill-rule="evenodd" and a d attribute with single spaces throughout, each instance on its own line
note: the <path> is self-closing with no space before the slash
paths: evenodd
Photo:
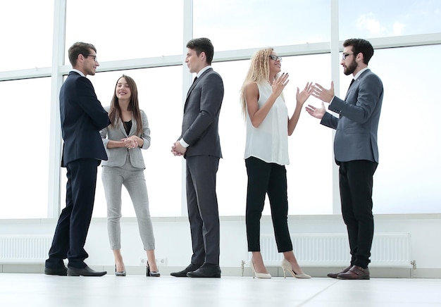
<path id="1" fill-rule="evenodd" d="M 259 158 L 245 159 L 247 166 L 247 239 L 248 251 L 260 251 L 260 219 L 265 195 L 271 206 L 271 218 L 275 242 L 279 253 L 292 251 L 290 231 L 288 230 L 288 196 L 285 165 L 266 163 Z"/>

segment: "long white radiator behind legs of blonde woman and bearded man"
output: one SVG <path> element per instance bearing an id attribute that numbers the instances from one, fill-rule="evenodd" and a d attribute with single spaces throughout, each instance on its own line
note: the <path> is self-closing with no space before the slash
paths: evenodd
<path id="1" fill-rule="evenodd" d="M 351 260 L 347 234 L 292 234 L 294 254 L 304 266 L 347 266 Z M 274 234 L 261 235 L 261 253 L 266 265 L 280 265 Z M 251 261 L 251 253 L 248 253 Z M 411 268 L 410 234 L 374 234 L 371 266 Z"/>

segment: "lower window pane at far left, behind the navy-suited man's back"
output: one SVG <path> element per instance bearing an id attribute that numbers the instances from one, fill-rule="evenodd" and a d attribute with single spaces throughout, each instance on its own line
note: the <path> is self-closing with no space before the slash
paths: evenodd
<path id="1" fill-rule="evenodd" d="M 45 218 L 51 79 L 0 82 L 0 218 Z"/>

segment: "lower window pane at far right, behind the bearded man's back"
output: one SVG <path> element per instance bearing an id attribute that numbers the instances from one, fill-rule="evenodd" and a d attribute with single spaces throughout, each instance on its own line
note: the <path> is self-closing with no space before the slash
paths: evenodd
<path id="1" fill-rule="evenodd" d="M 370 68 L 385 94 L 378 127 L 374 213 L 440 213 L 441 45 L 375 51 Z M 421 55 L 430 65 L 421 65 Z"/>

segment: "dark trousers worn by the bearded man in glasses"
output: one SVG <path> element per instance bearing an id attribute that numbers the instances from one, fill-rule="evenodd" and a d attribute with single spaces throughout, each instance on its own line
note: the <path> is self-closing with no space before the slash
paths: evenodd
<path id="1" fill-rule="evenodd" d="M 378 163 L 341 162 L 339 170 L 342 215 L 347 226 L 351 265 L 367 268 L 373 240 L 372 187 Z"/>

